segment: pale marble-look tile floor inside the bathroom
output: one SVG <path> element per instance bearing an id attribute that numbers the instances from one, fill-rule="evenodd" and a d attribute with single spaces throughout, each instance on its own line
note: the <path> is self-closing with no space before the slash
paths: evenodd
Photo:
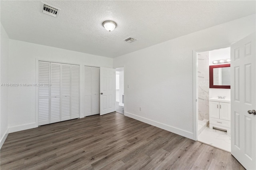
<path id="1" fill-rule="evenodd" d="M 228 152 L 231 151 L 230 134 L 222 130 L 206 127 L 197 140 Z"/>

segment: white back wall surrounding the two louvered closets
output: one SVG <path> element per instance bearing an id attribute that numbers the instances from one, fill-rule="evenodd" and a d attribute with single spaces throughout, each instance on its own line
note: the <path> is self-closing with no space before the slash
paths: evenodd
<path id="1" fill-rule="evenodd" d="M 80 64 L 80 117 L 83 111 L 83 70 L 84 65 L 113 67 L 113 59 L 10 40 L 9 82 L 36 83 L 36 59 Z M 12 87 L 8 100 L 9 132 L 37 127 L 36 88 Z"/>

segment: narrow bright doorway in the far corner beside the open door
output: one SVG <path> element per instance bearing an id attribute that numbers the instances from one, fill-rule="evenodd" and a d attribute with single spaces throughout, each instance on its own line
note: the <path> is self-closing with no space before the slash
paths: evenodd
<path id="1" fill-rule="evenodd" d="M 116 100 L 115 111 L 124 114 L 124 67 L 115 69 L 116 72 Z"/>

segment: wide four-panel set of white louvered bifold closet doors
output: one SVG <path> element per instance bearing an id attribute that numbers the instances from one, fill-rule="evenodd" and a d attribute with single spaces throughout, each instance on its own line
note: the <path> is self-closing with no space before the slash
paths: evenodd
<path id="1" fill-rule="evenodd" d="M 38 61 L 38 125 L 80 116 L 79 65 Z"/>

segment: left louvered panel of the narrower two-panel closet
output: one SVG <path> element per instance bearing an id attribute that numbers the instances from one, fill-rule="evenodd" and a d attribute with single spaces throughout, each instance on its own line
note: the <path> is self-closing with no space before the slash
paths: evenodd
<path id="1" fill-rule="evenodd" d="M 92 115 L 92 67 L 84 66 L 84 116 Z"/>

